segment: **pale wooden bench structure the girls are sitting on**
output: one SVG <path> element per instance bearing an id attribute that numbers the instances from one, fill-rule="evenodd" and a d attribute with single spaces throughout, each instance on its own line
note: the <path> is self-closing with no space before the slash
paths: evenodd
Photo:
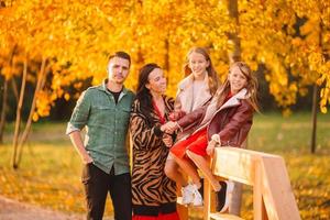
<path id="1" fill-rule="evenodd" d="M 253 187 L 254 220 L 300 220 L 283 157 L 237 147 L 217 147 L 211 168 L 219 178 L 228 178 Z M 241 219 L 215 212 L 211 186 L 205 182 L 204 219 Z M 187 208 L 179 206 L 182 220 Z"/>

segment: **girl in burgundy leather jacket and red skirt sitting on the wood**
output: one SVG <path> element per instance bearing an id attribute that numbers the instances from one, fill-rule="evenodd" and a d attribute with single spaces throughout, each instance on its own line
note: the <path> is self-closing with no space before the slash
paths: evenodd
<path id="1" fill-rule="evenodd" d="M 249 66 L 242 62 L 234 63 L 209 106 L 165 125 L 167 132 L 194 128 L 195 132 L 176 143 L 170 148 L 170 154 L 191 177 L 194 194 L 200 199 L 197 190 L 200 177 L 194 164 L 201 169 L 213 190 L 218 193 L 217 210 L 220 212 L 229 207 L 228 194 L 232 190 L 232 183 L 219 183 L 209 168 L 207 157 L 213 154 L 217 145 L 241 147 L 251 129 L 253 112 L 257 110 L 256 89 L 257 81 Z"/>

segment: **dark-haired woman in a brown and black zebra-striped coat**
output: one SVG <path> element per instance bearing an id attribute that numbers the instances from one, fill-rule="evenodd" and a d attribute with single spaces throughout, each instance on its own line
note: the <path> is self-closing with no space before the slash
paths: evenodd
<path id="1" fill-rule="evenodd" d="M 174 100 L 164 96 L 166 79 L 156 64 L 140 70 L 136 98 L 131 116 L 133 141 L 132 202 L 133 220 L 178 220 L 175 182 L 164 173 L 172 138 L 165 138 L 164 124 Z M 165 143 L 164 143 L 165 142 Z"/>

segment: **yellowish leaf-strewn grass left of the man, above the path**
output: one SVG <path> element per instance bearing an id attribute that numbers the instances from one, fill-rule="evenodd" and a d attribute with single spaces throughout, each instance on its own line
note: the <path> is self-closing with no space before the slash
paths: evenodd
<path id="1" fill-rule="evenodd" d="M 0 145 L 0 195 L 68 213 L 86 211 L 81 162 L 65 128 L 65 123 L 35 124 L 23 148 L 20 168 L 13 170 L 9 144 L 12 124 L 9 125 L 6 143 Z M 112 215 L 109 200 L 107 216 Z"/>

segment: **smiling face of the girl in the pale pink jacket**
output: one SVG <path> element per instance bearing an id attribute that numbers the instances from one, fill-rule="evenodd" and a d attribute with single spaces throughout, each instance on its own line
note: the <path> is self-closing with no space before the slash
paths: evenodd
<path id="1" fill-rule="evenodd" d="M 210 65 L 209 61 L 202 54 L 193 52 L 189 57 L 189 68 L 195 78 L 204 78 L 207 73 L 207 67 Z"/>

